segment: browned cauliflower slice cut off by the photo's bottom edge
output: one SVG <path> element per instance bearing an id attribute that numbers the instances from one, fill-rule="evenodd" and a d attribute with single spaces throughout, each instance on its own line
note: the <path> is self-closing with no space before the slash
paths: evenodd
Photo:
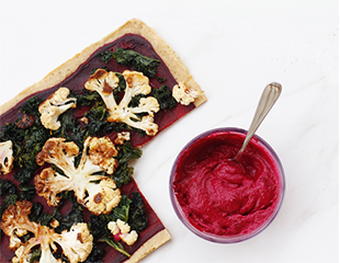
<path id="1" fill-rule="evenodd" d="M 93 237 L 84 222 L 73 225 L 69 231 L 55 232 L 53 228 L 42 226 L 31 221 L 29 215 L 33 204 L 27 201 L 16 202 L 3 213 L 1 229 L 15 240 L 10 244 L 10 249 L 15 251 L 12 262 L 30 262 L 33 248 L 41 247 L 42 255 L 39 262 L 61 263 L 61 260 L 54 258 L 53 252 L 57 250 L 57 244 L 71 263 L 83 262 L 92 251 Z M 22 241 L 20 237 L 30 233 L 27 241 Z"/>

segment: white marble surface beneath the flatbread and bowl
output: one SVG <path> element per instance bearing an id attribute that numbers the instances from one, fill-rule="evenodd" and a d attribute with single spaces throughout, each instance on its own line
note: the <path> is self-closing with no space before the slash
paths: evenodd
<path id="1" fill-rule="evenodd" d="M 135 178 L 172 240 L 144 262 L 339 262 L 338 1 L 1 1 L 0 104 L 132 18 L 179 54 L 207 103 L 144 148 Z M 265 84 L 283 93 L 258 135 L 280 156 L 274 222 L 237 244 L 201 240 L 177 218 L 169 173 L 181 148 L 222 126 L 248 128 Z"/>

